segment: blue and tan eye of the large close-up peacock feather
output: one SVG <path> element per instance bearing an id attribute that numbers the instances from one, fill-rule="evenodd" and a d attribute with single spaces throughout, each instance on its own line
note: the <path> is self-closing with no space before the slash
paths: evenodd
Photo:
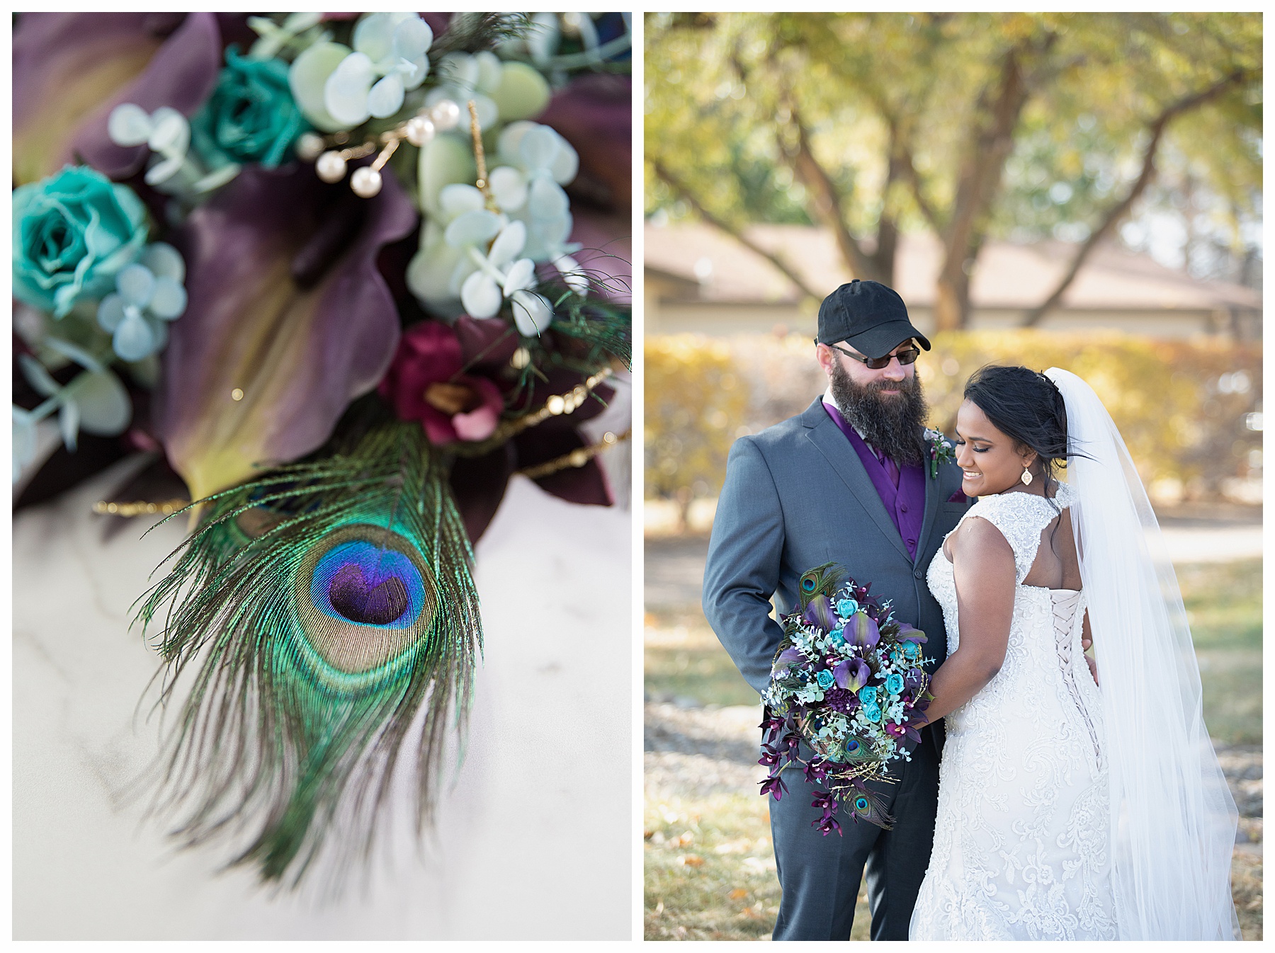
<path id="1" fill-rule="evenodd" d="M 306 553 L 296 598 L 310 646 L 338 671 L 361 674 L 393 661 L 428 634 L 437 587 L 405 536 L 351 524 Z"/>

